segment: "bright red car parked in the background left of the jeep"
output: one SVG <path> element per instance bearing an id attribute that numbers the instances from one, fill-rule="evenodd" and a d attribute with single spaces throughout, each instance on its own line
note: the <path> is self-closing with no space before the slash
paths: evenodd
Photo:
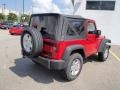
<path id="1" fill-rule="evenodd" d="M 14 25 L 9 29 L 9 33 L 11 35 L 21 35 L 24 31 L 24 28 L 27 27 L 25 25 Z"/>

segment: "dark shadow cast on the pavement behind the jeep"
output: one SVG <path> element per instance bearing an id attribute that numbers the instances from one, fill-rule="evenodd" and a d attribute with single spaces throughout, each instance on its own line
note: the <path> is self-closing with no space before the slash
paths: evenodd
<path id="1" fill-rule="evenodd" d="M 54 82 L 54 79 L 59 82 L 66 82 L 60 77 L 58 71 L 48 70 L 41 65 L 34 64 L 29 59 L 16 59 L 15 66 L 10 67 L 10 70 L 20 77 L 29 76 L 39 83 L 49 84 Z"/>

